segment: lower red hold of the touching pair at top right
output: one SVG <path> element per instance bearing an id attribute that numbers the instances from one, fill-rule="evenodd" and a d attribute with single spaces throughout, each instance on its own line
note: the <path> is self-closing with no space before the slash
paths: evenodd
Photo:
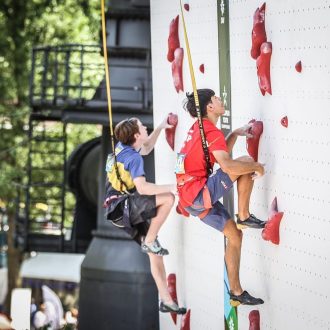
<path id="1" fill-rule="evenodd" d="M 264 42 L 260 47 L 260 56 L 257 58 L 257 75 L 259 88 L 262 95 L 266 92 L 272 95 L 272 86 L 270 81 L 270 58 L 272 56 L 272 43 Z"/>

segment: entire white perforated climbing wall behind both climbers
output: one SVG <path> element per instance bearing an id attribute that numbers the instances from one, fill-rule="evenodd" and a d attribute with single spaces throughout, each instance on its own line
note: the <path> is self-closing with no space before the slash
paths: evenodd
<path id="1" fill-rule="evenodd" d="M 227 1 L 190 0 L 184 14 L 197 86 L 223 96 L 218 49 L 221 3 Z M 261 329 L 329 329 L 330 2 L 267 1 L 263 41 L 271 43 L 272 54 L 264 53 L 262 57 L 269 58 L 258 62 L 250 54 L 251 31 L 253 16 L 262 5 L 254 0 L 229 3 L 231 121 L 233 128 L 251 119 L 263 122 L 258 156 L 266 164 L 266 174 L 255 183 L 251 211 L 274 220 L 277 213 L 271 204 L 277 198 L 277 211 L 283 213 L 276 239 L 269 232 L 264 232 L 268 239 L 264 240 L 261 231 L 244 231 L 242 285 L 265 304 L 239 306 L 238 329 L 249 329 L 253 310 L 259 311 Z M 192 87 L 181 17 L 173 52 L 183 51 L 168 59 L 170 25 L 179 14 L 179 1 L 151 0 L 154 122 L 168 112 L 179 119 L 174 151 L 165 139 L 157 145 L 157 183 L 175 181 L 176 152 L 192 123 L 182 109 L 183 91 Z M 244 138 L 238 140 L 233 156 L 242 154 L 247 154 Z M 175 324 L 161 314 L 160 328 L 189 329 L 189 323 L 192 330 L 223 329 L 222 235 L 173 209 L 160 239 L 170 251 L 166 270 L 176 275 L 179 303 L 190 309 L 190 322 L 184 324 L 181 317 Z"/>

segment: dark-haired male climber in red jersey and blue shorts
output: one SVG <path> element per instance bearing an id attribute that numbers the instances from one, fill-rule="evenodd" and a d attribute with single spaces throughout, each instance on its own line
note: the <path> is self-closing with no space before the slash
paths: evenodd
<path id="1" fill-rule="evenodd" d="M 196 120 L 178 154 L 176 165 L 178 210 L 186 215 L 189 213 L 198 216 L 202 222 L 223 232 L 227 238 L 225 262 L 230 285 L 230 299 L 235 304 L 263 304 L 262 299 L 243 291 L 240 284 L 242 231 L 238 228 L 265 226 L 265 221 L 256 218 L 249 210 L 253 180 L 264 174 L 264 167 L 249 156 L 231 158 L 230 153 L 237 137 L 249 136 L 248 127 L 236 129 L 225 138 L 222 131 L 216 127 L 218 119 L 225 112 L 221 99 L 210 89 L 199 89 L 198 98 L 210 166 L 213 168 L 213 165 L 218 163 L 220 168 L 208 176 L 199 123 Z M 193 93 L 187 94 L 184 107 L 192 117 L 197 117 Z M 238 191 L 237 223 L 219 202 L 219 199 L 232 188 L 235 181 L 237 181 Z"/>

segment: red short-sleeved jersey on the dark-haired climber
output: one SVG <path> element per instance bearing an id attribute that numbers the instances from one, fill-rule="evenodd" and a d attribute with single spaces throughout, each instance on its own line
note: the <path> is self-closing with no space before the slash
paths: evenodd
<path id="1" fill-rule="evenodd" d="M 216 162 L 212 152 L 224 150 L 228 152 L 225 136 L 210 120 L 203 119 L 207 146 L 210 153 L 211 167 Z M 177 182 L 182 178 L 184 185 L 178 184 L 180 204 L 183 207 L 193 204 L 194 199 L 207 181 L 207 167 L 199 132 L 198 121 L 188 131 L 188 136 L 178 154 L 176 177 Z"/>

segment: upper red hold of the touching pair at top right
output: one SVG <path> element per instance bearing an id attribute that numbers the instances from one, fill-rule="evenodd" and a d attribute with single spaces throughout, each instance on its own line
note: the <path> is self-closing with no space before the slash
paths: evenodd
<path id="1" fill-rule="evenodd" d="M 267 41 L 265 29 L 265 9 L 266 3 L 264 3 L 260 8 L 257 8 L 253 15 L 251 56 L 255 60 L 260 55 L 260 46 Z"/>

